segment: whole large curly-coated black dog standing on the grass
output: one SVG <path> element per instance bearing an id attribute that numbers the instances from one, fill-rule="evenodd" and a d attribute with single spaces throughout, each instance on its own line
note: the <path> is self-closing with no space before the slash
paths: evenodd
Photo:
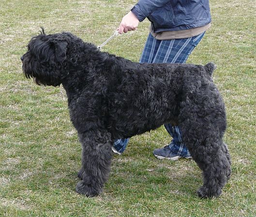
<path id="1" fill-rule="evenodd" d="M 219 196 L 230 156 L 223 135 L 225 105 L 211 75 L 215 65 L 140 64 L 85 43 L 71 33 L 33 37 L 21 57 L 27 78 L 58 86 L 82 144 L 78 193 L 98 195 L 108 179 L 113 141 L 178 124 L 203 171 L 200 197 Z"/>

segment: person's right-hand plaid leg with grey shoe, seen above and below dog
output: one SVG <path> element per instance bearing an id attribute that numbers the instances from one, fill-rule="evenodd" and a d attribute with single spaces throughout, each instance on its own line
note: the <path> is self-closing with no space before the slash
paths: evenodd
<path id="1" fill-rule="evenodd" d="M 196 45 L 203 38 L 204 33 L 186 39 L 175 39 L 161 41 L 153 63 L 185 63 Z M 181 157 L 191 158 L 191 155 L 184 145 L 181 130 L 178 126 L 165 124 L 167 132 L 173 137 L 171 143 L 161 149 L 154 149 L 153 154 L 159 158 L 178 160 Z"/>

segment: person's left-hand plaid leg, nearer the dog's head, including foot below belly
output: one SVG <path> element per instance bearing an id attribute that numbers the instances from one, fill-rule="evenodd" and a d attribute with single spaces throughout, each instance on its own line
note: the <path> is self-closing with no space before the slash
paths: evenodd
<path id="1" fill-rule="evenodd" d="M 156 40 L 151 34 L 149 34 L 139 62 L 151 63 L 155 54 L 157 53 L 160 42 L 160 40 Z M 121 138 L 115 140 L 114 145 L 112 147 L 113 152 L 121 154 L 126 149 L 128 142 L 129 138 Z"/>

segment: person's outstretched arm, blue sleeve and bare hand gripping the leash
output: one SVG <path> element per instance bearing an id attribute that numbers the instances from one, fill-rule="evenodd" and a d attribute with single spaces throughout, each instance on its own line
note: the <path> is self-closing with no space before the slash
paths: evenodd
<path id="1" fill-rule="evenodd" d="M 131 11 L 122 18 L 118 32 L 121 34 L 135 30 L 139 22 L 142 22 L 153 11 L 163 7 L 169 1 L 170 0 L 139 0 Z"/>

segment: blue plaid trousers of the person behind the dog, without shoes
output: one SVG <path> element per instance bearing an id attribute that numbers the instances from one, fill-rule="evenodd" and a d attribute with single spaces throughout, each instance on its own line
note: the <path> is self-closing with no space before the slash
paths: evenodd
<path id="1" fill-rule="evenodd" d="M 163 41 L 155 39 L 150 33 L 139 62 L 185 63 L 188 56 L 203 38 L 204 33 L 205 32 L 191 38 Z M 172 141 L 169 144 L 171 151 L 181 157 L 190 157 L 190 153 L 182 141 L 180 128 L 178 126 L 172 126 L 170 123 L 164 126 L 170 136 L 172 136 Z M 114 148 L 122 153 L 128 142 L 129 138 L 118 139 L 114 142 Z"/>

